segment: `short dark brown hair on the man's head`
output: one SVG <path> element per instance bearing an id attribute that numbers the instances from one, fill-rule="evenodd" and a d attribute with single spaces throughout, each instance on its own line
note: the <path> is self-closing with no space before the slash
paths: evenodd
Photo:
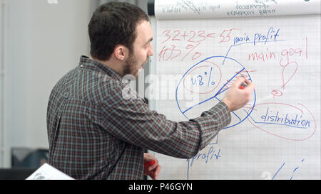
<path id="1" fill-rule="evenodd" d="M 116 45 L 125 45 L 131 52 L 136 39 L 136 27 L 149 21 L 138 6 L 123 2 L 109 2 L 99 6 L 88 24 L 91 56 L 98 60 L 111 58 Z"/>

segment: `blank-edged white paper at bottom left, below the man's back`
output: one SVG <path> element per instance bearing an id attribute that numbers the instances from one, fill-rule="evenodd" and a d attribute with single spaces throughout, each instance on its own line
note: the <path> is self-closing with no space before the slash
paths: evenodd
<path id="1" fill-rule="evenodd" d="M 38 170 L 31 174 L 26 180 L 74 180 L 65 173 L 44 163 Z"/>

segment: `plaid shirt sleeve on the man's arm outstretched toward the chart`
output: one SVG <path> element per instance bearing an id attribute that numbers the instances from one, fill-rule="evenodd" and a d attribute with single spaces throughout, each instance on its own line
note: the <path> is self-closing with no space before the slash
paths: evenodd
<path id="1" fill-rule="evenodd" d="M 230 123 L 228 107 L 220 102 L 200 117 L 173 122 L 148 109 L 143 99 L 125 99 L 121 87 L 108 92 L 101 106 L 103 129 L 118 139 L 176 158 L 192 158 Z"/>

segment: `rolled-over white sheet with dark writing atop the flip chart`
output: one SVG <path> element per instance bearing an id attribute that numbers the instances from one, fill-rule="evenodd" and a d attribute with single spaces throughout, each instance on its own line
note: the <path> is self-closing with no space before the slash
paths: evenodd
<path id="1" fill-rule="evenodd" d="M 320 0 L 161 0 L 158 20 L 168 18 L 230 18 L 320 14 Z"/>

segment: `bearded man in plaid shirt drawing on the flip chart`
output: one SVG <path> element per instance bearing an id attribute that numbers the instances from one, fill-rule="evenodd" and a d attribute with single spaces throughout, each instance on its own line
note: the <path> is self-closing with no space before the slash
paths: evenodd
<path id="1" fill-rule="evenodd" d="M 126 3 L 103 4 L 88 25 L 91 57 L 64 75 L 51 92 L 47 112 L 49 163 L 76 179 L 158 178 L 161 166 L 144 149 L 192 158 L 230 123 L 230 112 L 250 99 L 253 85 L 235 82 L 222 102 L 188 122 L 173 122 L 126 99 L 124 75 L 153 55 L 148 16 Z M 246 82 L 247 87 L 240 90 Z M 144 167 L 144 163 L 156 161 Z"/>

